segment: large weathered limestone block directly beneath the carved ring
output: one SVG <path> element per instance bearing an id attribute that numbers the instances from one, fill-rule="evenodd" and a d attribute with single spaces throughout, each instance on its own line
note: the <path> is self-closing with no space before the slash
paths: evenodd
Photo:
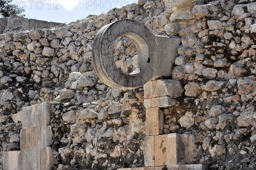
<path id="1" fill-rule="evenodd" d="M 161 96 L 180 97 L 184 91 L 180 81 L 177 80 L 155 80 L 144 85 L 144 98 L 155 98 Z"/>

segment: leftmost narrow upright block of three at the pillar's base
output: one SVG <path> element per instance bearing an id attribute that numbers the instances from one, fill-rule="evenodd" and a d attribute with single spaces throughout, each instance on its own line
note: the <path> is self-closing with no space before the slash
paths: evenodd
<path id="1" fill-rule="evenodd" d="M 154 136 L 144 138 L 144 164 L 145 167 L 154 166 Z"/>

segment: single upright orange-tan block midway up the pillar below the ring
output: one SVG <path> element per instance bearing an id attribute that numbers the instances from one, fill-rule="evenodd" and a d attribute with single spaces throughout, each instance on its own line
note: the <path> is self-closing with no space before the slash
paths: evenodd
<path id="1" fill-rule="evenodd" d="M 146 109 L 145 134 L 160 135 L 163 133 L 163 111 L 158 108 Z"/>

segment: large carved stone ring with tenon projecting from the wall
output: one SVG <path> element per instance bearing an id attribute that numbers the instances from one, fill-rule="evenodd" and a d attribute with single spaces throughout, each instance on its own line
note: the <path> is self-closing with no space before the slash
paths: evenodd
<path id="1" fill-rule="evenodd" d="M 121 36 L 129 37 L 137 46 L 139 72 L 127 75 L 116 67 L 113 46 Z M 134 89 L 151 79 L 170 76 L 179 44 L 180 37 L 155 36 L 143 23 L 118 20 L 102 27 L 96 34 L 93 65 L 104 84 L 115 89 Z"/>

